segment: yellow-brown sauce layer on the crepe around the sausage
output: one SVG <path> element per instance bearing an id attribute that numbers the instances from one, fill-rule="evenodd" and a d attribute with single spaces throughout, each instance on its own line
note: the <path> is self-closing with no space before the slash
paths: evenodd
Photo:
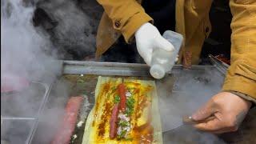
<path id="1" fill-rule="evenodd" d="M 150 121 L 150 110 L 151 110 L 151 95 L 149 94 L 152 90 L 152 86 L 144 86 L 142 83 L 138 82 L 127 82 L 125 83 L 126 89 L 130 90 L 132 97 L 135 99 L 134 103 L 134 113 L 130 116 L 130 123 L 132 129 L 128 138 L 130 140 L 110 140 L 110 117 L 112 109 L 114 107 L 114 96 L 118 94 L 117 89 L 114 90 L 114 87 L 117 87 L 118 84 L 114 82 L 107 82 L 102 84 L 102 89 L 95 103 L 95 113 L 94 121 L 92 126 L 95 128 L 96 133 L 94 134 L 95 143 L 104 143 L 104 142 L 114 142 L 114 143 L 152 143 L 154 138 L 154 129 L 151 126 Z M 147 118 L 142 118 L 144 109 L 149 110 Z"/>

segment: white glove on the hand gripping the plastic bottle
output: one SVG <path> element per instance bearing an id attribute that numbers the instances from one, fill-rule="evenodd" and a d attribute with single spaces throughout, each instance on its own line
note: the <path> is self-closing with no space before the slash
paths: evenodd
<path id="1" fill-rule="evenodd" d="M 150 66 L 152 53 L 155 49 L 162 49 L 168 52 L 174 51 L 174 46 L 159 33 L 158 29 L 151 23 L 143 24 L 135 32 L 138 54 L 142 56 L 147 65 Z"/>

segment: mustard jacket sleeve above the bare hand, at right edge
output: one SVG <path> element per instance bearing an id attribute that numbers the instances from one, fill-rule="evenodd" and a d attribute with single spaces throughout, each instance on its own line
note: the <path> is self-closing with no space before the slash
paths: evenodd
<path id="1" fill-rule="evenodd" d="M 256 99 L 256 1 L 230 0 L 231 66 L 222 90 Z"/>

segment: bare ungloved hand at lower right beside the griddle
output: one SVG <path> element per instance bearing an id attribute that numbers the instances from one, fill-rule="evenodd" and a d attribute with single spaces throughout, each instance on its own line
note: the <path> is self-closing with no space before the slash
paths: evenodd
<path id="1" fill-rule="evenodd" d="M 215 118 L 194 125 L 199 130 L 214 134 L 238 130 L 238 126 L 246 117 L 251 102 L 229 92 L 221 92 L 214 95 L 209 102 L 199 109 L 192 118 L 196 121 L 204 120 L 210 116 Z"/>

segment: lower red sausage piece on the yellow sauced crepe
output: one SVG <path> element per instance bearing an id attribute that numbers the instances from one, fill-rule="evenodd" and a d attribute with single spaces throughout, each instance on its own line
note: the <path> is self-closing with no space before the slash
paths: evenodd
<path id="1" fill-rule="evenodd" d="M 117 136 L 118 131 L 118 104 L 114 105 L 110 118 L 110 139 Z"/>

